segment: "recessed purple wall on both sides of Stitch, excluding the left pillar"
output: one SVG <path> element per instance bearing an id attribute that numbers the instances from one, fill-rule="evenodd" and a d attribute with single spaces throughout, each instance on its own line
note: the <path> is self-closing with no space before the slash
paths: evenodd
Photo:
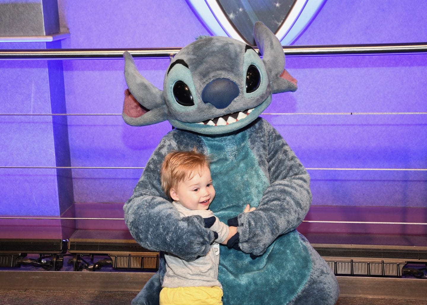
<path id="1" fill-rule="evenodd" d="M 318 41 L 323 44 L 393 42 L 389 41 L 390 28 L 385 27 L 390 18 L 399 24 L 392 37 L 396 41 L 420 41 L 427 37 L 423 34 L 423 25 L 398 18 L 400 9 L 404 7 L 399 1 L 393 1 L 398 9 L 384 7 L 376 1 L 366 1 L 359 10 L 345 9 L 345 14 L 337 15 L 339 3 L 327 1 L 298 41 L 304 39 L 304 44 L 316 44 Z M 137 4 L 129 11 L 126 26 L 114 14 L 113 6 L 117 5 L 114 1 L 105 4 L 107 6 L 102 13 L 94 4 L 68 4 L 67 25 L 73 30 L 71 38 L 63 41 L 64 48 L 184 46 L 194 37 L 208 34 L 186 3 L 151 3 L 149 8 L 144 7 L 145 4 Z M 181 6 L 177 11 L 175 7 L 178 5 Z M 427 10 L 421 7 L 423 5 L 418 3 L 412 14 L 426 15 Z M 375 23 L 353 17 L 362 15 L 368 8 L 371 19 L 375 15 Z M 78 17 L 85 12 L 92 16 L 92 20 Z M 145 18 L 139 18 L 140 15 Z M 344 21 L 348 26 L 341 29 L 339 24 Z M 90 26 L 92 30 L 87 32 Z M 416 32 L 415 28 L 420 27 L 421 32 Z M 338 30 L 340 35 L 336 34 Z M 358 34 L 350 35 L 353 32 Z M 375 33 L 376 41 L 365 41 L 362 33 L 369 39 Z M 407 35 L 410 35 L 409 38 L 406 38 Z M 424 78 L 420 76 L 425 75 L 425 64 L 422 58 L 415 58 L 287 58 L 288 70 L 298 79 L 298 91 L 275 95 L 268 110 L 423 111 L 426 86 Z M 136 64 L 143 76 L 158 88 L 163 88 L 167 59 L 139 59 Z M 69 113 L 121 113 L 126 88 L 122 61 L 65 61 L 64 70 Z M 417 85 L 404 81 L 412 79 L 414 75 Z M 410 144 L 410 140 L 406 140 L 412 132 L 425 135 L 424 127 L 417 123 L 423 117 L 265 117 L 284 135 L 306 167 L 426 167 L 421 158 L 425 146 L 417 141 Z M 414 129 L 407 120 L 415 122 Z M 73 166 L 144 166 L 161 136 L 170 130 L 168 123 L 127 126 L 120 116 L 70 117 L 68 123 Z M 380 132 L 380 137 L 371 136 L 371 132 Z M 142 170 L 73 170 L 75 200 L 124 202 L 132 194 L 141 173 Z M 405 199 L 407 205 L 420 206 L 423 204 L 422 198 L 425 198 L 425 189 L 419 188 L 421 182 L 417 182 L 424 179 L 422 172 L 310 171 L 310 174 L 313 177 L 314 204 L 404 204 L 401 197 L 394 196 L 395 190 L 400 194 L 409 194 Z M 391 191 L 390 196 L 383 196 Z"/>

